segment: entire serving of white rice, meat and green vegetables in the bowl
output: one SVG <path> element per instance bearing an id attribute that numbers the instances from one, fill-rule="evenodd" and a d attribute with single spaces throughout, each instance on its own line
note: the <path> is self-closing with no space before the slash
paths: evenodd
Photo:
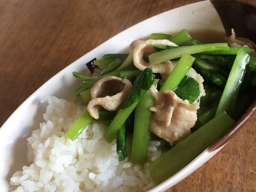
<path id="1" fill-rule="evenodd" d="M 255 44 L 234 30 L 227 42 L 151 34 L 95 59 L 91 76 L 74 72 L 75 103 L 41 101 L 15 191 L 146 191 L 171 177 L 231 127 L 239 92 L 256 85 Z"/>

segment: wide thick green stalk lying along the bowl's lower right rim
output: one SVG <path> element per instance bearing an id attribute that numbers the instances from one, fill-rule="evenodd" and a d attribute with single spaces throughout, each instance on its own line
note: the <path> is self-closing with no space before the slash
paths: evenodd
<path id="1" fill-rule="evenodd" d="M 224 111 L 148 166 L 151 177 L 159 184 L 180 171 L 212 142 L 225 133 L 234 120 Z"/>

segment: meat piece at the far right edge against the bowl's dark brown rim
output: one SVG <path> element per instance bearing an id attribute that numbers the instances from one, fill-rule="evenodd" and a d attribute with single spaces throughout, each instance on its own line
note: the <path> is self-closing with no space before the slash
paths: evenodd
<path id="1" fill-rule="evenodd" d="M 249 46 L 251 49 L 251 55 L 256 55 L 256 45 L 249 38 L 236 37 L 234 29 L 231 29 L 231 35 L 228 39 L 229 46 Z"/>

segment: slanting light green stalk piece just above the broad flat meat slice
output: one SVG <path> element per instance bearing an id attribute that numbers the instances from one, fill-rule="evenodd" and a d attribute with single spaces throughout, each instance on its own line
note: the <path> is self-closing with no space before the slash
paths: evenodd
<path id="1" fill-rule="evenodd" d="M 177 48 L 176 48 L 177 49 Z M 191 55 L 182 55 L 177 65 L 174 67 L 164 84 L 162 85 L 160 91 L 171 90 L 173 91 L 188 73 L 195 61 L 195 58 Z"/>

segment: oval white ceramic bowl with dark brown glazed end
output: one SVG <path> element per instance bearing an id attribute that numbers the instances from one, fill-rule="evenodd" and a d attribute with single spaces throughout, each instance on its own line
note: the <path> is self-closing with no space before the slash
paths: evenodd
<path id="1" fill-rule="evenodd" d="M 9 119 L 7 119 L 0 129 L 1 191 L 10 191 L 12 189 L 8 181 L 11 175 L 15 171 L 21 170 L 22 165 L 28 163 L 26 158 L 26 139 L 34 129 L 37 129 L 39 123 L 43 121 L 42 114 L 44 113 L 46 107 L 40 102 L 40 100 L 45 98 L 47 95 L 55 95 L 62 99 L 74 101 L 75 95 L 73 92 L 68 90 L 75 90 L 75 88 L 78 87 L 79 82 L 73 77 L 72 72 L 84 72 L 85 63 L 89 62 L 93 58 L 99 58 L 105 53 L 122 52 L 134 39 L 148 37 L 151 33 L 169 33 L 171 31 L 178 31 L 184 28 L 189 31 L 199 30 L 202 33 L 216 31 L 218 33 L 225 34 L 225 27 L 227 31 L 230 31 L 230 28 L 233 27 L 237 31 L 238 35 L 249 37 L 255 41 L 255 37 L 253 39 L 253 34 L 255 34 L 256 31 L 255 26 L 253 29 L 252 23 L 250 25 L 250 22 L 240 21 L 239 23 L 249 23 L 247 26 L 243 26 L 243 30 L 240 30 L 241 26 L 233 25 L 234 23 L 227 19 L 230 16 L 228 14 L 234 14 L 233 9 L 238 9 L 239 11 L 240 9 L 247 9 L 248 7 L 249 9 L 254 10 L 252 12 L 254 13 L 254 17 L 253 14 L 251 14 L 251 18 L 242 17 L 245 14 L 244 11 L 240 11 L 238 13 L 243 14 L 241 16 L 243 20 L 255 19 L 255 7 L 250 8 L 250 6 L 247 5 L 236 7 L 236 3 L 233 6 L 234 2 L 229 2 L 229 4 L 225 5 L 226 11 L 221 12 L 221 6 L 223 4 L 219 4 L 219 1 L 214 1 L 213 3 L 217 9 L 215 9 L 212 2 L 204 1 L 182 6 L 142 21 L 137 25 L 124 30 L 122 33 L 110 38 L 108 41 L 101 44 L 91 52 L 85 54 L 82 58 L 79 58 L 75 62 L 71 63 L 71 65 L 61 70 L 57 75 L 53 76 L 51 79 L 49 79 L 49 81 L 42 85 L 25 102 L 23 102 L 17 110 L 14 111 L 14 113 Z M 224 15 L 226 17 L 226 20 L 223 19 L 225 17 L 222 17 L 221 20 L 217 10 L 219 11 L 220 15 Z M 138 33 L 138 31 L 140 32 Z M 246 119 L 249 118 L 255 111 L 255 94 L 254 98 L 247 102 L 247 105 L 251 105 L 251 107 L 248 107 L 249 110 L 247 110 L 247 112 L 243 111 L 244 115 L 237 121 L 234 127 L 232 127 L 227 134 L 223 135 L 223 137 L 218 141 L 215 141 L 213 145 L 205 149 L 178 173 L 174 174 L 171 178 L 150 189 L 149 191 L 163 191 L 174 186 L 176 183 L 186 178 L 189 174 L 198 169 L 198 167 L 208 161 L 212 156 L 218 153 L 223 145 L 228 142 L 231 135 L 233 135 L 239 129 L 239 127 L 243 125 Z"/>

